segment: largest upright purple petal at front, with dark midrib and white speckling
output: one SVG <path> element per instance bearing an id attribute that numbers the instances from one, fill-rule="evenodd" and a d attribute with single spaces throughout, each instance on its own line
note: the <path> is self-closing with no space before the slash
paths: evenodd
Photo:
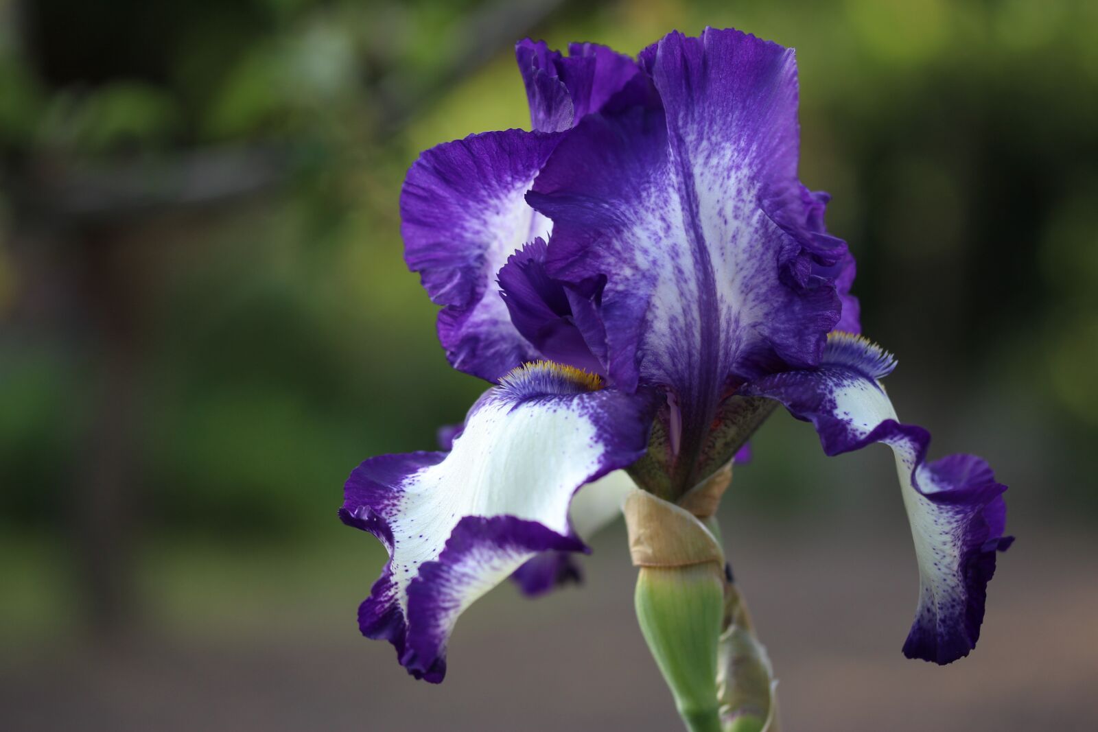
<path id="1" fill-rule="evenodd" d="M 641 63 L 662 110 L 585 117 L 527 200 L 553 221 L 550 274 L 608 278 L 610 376 L 672 392 L 685 489 L 705 477 L 695 454 L 731 388 L 819 359 L 840 302 L 814 268 L 845 246 L 807 225 L 791 49 L 708 29 L 666 36 Z"/>

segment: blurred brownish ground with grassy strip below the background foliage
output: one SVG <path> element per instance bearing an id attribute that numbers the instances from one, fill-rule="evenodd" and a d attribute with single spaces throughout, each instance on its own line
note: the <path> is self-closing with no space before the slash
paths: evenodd
<path id="1" fill-rule="evenodd" d="M 1094 536 L 1016 521 L 1022 539 L 1000 560 L 979 645 L 940 668 L 899 653 L 916 590 L 903 523 L 739 523 L 726 520 L 726 536 L 777 668 L 784 729 L 1098 729 L 1098 585 L 1080 582 Z M 126 644 L 5 639 L 3 728 L 680 729 L 632 616 L 620 527 L 595 542 L 582 589 L 530 601 L 505 585 L 466 613 L 440 686 L 356 634 L 381 555 L 363 562 L 376 547 L 347 534 L 280 562 L 160 553 L 148 578 L 163 623 Z M 187 567 L 204 581 L 155 588 L 156 573 Z"/>

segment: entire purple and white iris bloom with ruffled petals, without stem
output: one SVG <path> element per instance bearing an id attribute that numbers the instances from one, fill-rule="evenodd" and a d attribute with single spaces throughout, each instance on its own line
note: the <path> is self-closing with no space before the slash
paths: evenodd
<path id="1" fill-rule="evenodd" d="M 853 258 L 797 179 L 793 50 L 707 29 L 637 59 L 516 52 L 534 131 L 429 149 L 402 192 L 447 357 L 495 385 L 448 451 L 348 480 L 340 517 L 390 554 L 362 633 L 440 682 L 478 597 L 516 572 L 530 592 L 574 578 L 561 553 L 618 511 L 623 469 L 674 499 L 781 403 L 828 454 L 893 449 L 921 578 L 904 652 L 967 655 L 1010 542 L 1005 486 L 978 458 L 927 462 L 881 384 L 892 357 L 853 335 Z"/>

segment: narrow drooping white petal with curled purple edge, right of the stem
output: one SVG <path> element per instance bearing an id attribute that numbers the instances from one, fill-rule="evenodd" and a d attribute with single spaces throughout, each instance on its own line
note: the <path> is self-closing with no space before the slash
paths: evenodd
<path id="1" fill-rule="evenodd" d="M 1012 541 L 1002 536 L 1006 486 L 973 455 L 927 462 L 930 433 L 897 421 L 881 385 L 894 367 L 879 347 L 837 333 L 818 369 L 764 376 L 741 393 L 777 399 L 793 416 L 811 421 L 829 455 L 873 442 L 893 449 L 920 577 L 904 654 L 946 664 L 976 646 L 995 553 Z"/>

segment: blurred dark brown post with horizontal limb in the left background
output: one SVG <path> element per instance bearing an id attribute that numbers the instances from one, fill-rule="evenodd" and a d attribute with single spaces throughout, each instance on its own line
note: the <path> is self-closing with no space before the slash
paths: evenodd
<path id="1" fill-rule="evenodd" d="M 78 611 L 94 639 L 116 640 L 139 622 L 150 239 L 180 217 L 269 190 L 285 172 L 281 151 L 224 148 L 96 167 L 40 161 L 9 176 L 22 194 L 16 261 L 26 297 L 40 301 L 24 308 L 27 325 L 59 337 L 87 379 L 87 402 L 74 405 L 82 407 L 74 409 L 79 447 L 64 505 Z"/>

